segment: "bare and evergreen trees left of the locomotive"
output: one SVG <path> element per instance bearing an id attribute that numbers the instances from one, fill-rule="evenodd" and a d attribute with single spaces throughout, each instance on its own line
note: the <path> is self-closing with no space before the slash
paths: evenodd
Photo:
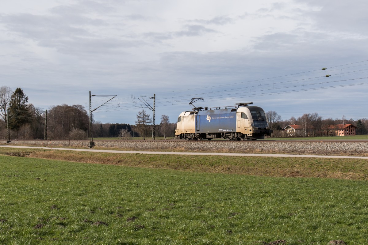
<path id="1" fill-rule="evenodd" d="M 86 139 L 88 114 L 82 105 L 67 104 L 53 105 L 46 113 L 45 109 L 29 103 L 21 88 L 12 91 L 10 87 L 0 87 L 0 138 L 3 139 L 7 138 L 8 127 L 11 139 L 44 139 L 46 134 L 47 139 Z M 155 127 L 156 136 L 174 137 L 175 127 L 176 123 L 170 123 L 169 117 L 162 115 Z M 138 113 L 136 125 L 101 123 L 92 118 L 93 137 L 122 137 L 123 131 L 130 137 L 152 136 L 152 120 L 144 109 Z"/>

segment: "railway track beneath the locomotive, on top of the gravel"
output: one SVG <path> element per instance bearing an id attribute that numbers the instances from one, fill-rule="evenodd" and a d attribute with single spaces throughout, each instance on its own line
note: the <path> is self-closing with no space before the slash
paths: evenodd
<path id="1" fill-rule="evenodd" d="M 22 142 L 31 142 L 31 141 L 47 141 L 47 142 L 60 142 L 60 141 L 79 141 L 79 142 L 89 142 L 89 140 L 11 140 L 11 141 L 22 141 Z M 334 143 L 334 142 L 339 142 L 339 143 L 353 143 L 353 142 L 361 142 L 361 143 L 368 143 L 368 140 L 244 140 L 244 141 L 236 141 L 236 140 L 201 140 L 201 141 L 197 141 L 197 140 L 93 140 L 94 142 L 187 142 L 187 143 L 191 143 L 191 142 L 203 142 L 203 143 L 210 143 L 210 142 L 232 142 L 232 143 L 250 143 L 250 142 L 296 142 L 296 143 Z"/>

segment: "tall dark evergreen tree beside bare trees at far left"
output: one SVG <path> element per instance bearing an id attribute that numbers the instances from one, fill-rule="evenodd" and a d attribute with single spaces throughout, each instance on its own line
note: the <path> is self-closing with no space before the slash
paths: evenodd
<path id="1" fill-rule="evenodd" d="M 9 128 L 15 131 L 15 138 L 18 138 L 18 131 L 21 126 L 29 122 L 28 97 L 25 96 L 21 88 L 17 88 L 11 95 L 9 102 Z"/>

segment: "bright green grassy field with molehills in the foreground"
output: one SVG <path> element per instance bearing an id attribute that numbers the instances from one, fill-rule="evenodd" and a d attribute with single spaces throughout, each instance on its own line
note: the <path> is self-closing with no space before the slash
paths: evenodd
<path id="1" fill-rule="evenodd" d="M 0 170 L 0 244 L 368 243 L 367 181 L 11 156 Z"/>

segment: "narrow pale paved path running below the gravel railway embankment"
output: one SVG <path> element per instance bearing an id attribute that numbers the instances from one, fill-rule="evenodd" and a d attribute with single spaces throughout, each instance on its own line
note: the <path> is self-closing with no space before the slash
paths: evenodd
<path id="1" fill-rule="evenodd" d="M 247 153 L 216 153 L 216 152 L 164 152 L 164 151 L 115 151 L 97 149 L 71 149 L 71 148 L 51 148 L 51 147 L 31 147 L 16 145 L 0 145 L 7 148 L 28 148 L 28 149 L 51 149 L 61 151 L 90 151 L 90 152 L 110 152 L 120 154 L 162 154 L 162 155 L 213 155 L 213 156 L 268 156 L 268 157 L 308 157 L 308 158 L 353 158 L 368 159 L 368 156 L 319 156 L 319 155 L 287 155 L 287 154 L 247 154 Z"/>

